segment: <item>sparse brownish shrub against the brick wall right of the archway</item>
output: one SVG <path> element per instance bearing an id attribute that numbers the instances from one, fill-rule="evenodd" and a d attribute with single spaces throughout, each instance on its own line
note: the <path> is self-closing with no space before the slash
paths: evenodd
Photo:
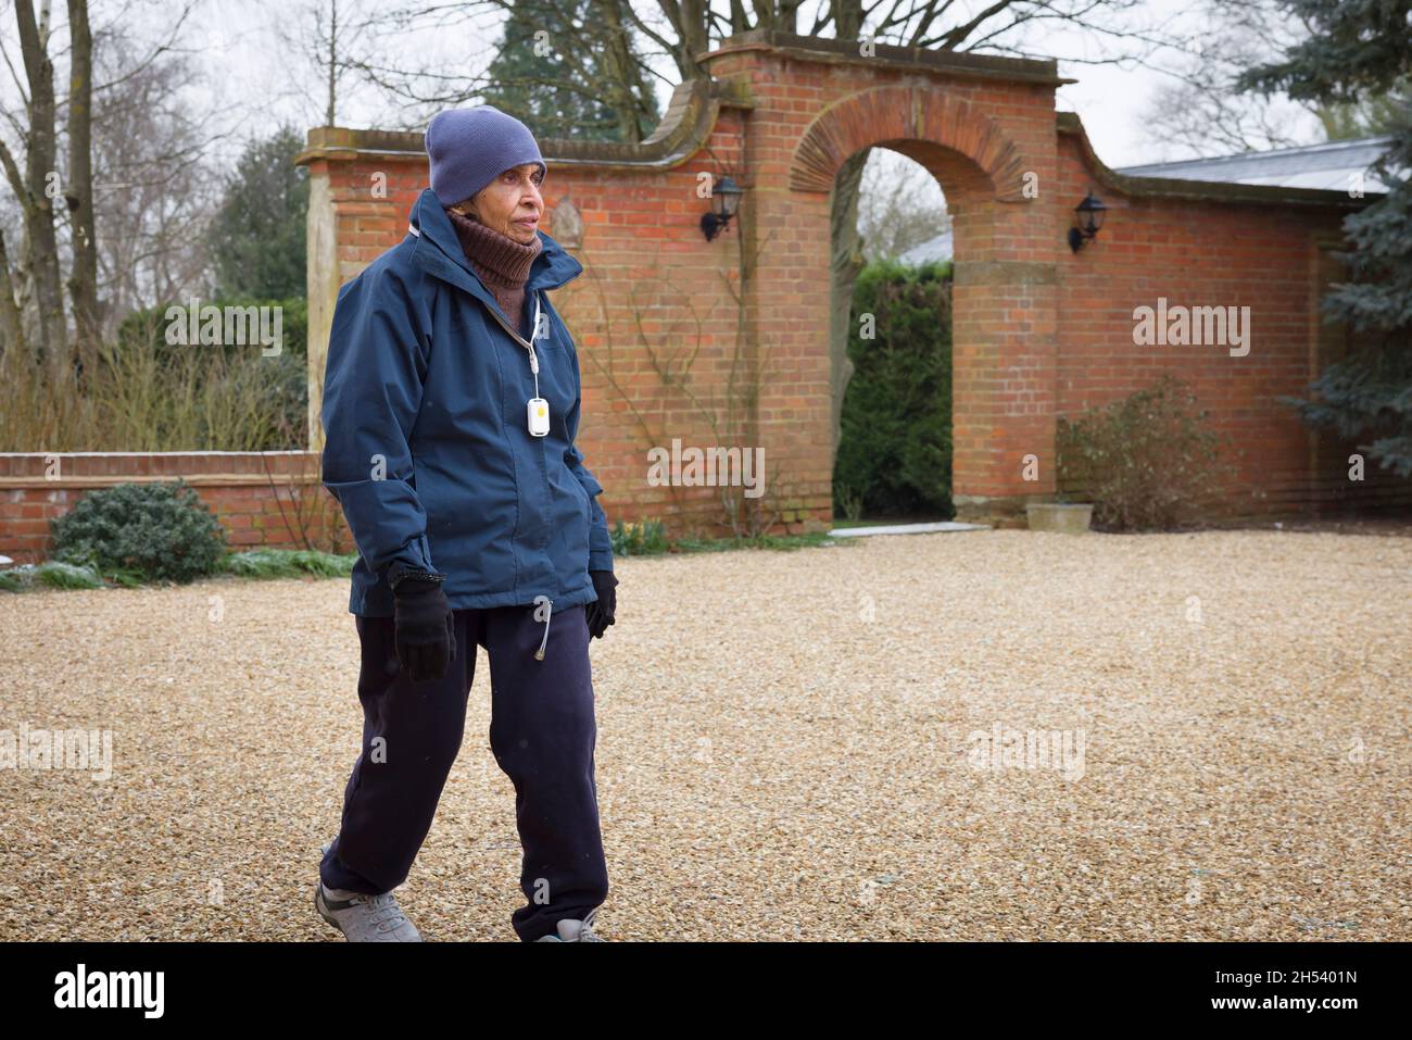
<path id="1" fill-rule="evenodd" d="M 1213 502 L 1228 472 L 1223 438 L 1204 428 L 1206 417 L 1172 376 L 1075 421 L 1060 417 L 1060 496 L 1093 502 L 1099 530 L 1182 526 Z"/>

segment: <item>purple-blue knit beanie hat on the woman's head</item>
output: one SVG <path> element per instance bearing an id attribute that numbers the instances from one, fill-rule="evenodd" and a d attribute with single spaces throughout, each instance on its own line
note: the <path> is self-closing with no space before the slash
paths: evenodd
<path id="1" fill-rule="evenodd" d="M 432 191 L 443 206 L 469 199 L 496 177 L 524 162 L 548 172 L 530 127 L 490 105 L 438 112 L 426 126 Z"/>

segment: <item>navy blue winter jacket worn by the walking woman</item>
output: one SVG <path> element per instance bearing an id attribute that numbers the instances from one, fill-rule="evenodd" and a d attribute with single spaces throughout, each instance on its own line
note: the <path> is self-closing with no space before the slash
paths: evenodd
<path id="1" fill-rule="evenodd" d="M 597 599 L 613 569 L 603 488 L 573 445 L 579 356 L 548 290 L 583 267 L 544 243 L 517 335 L 426 188 L 402 242 L 339 290 L 323 377 L 323 485 L 359 561 L 349 610 L 390 616 L 394 561 L 446 575 L 452 609 Z M 549 432 L 532 437 L 534 342 Z"/>

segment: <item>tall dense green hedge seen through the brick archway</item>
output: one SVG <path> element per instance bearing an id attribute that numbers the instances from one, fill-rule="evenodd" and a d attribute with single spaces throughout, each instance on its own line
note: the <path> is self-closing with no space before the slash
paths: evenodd
<path id="1" fill-rule="evenodd" d="M 950 264 L 875 261 L 858 274 L 834 516 L 955 514 L 950 287 Z M 864 314 L 873 339 L 861 336 Z"/>

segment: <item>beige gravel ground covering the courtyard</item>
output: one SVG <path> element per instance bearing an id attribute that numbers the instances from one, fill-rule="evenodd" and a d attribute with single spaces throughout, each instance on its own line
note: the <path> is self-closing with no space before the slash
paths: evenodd
<path id="1" fill-rule="evenodd" d="M 599 930 L 1412 938 L 1409 572 L 1409 538 L 1275 531 L 618 561 Z M 0 770 L 0 940 L 336 938 L 311 893 L 359 748 L 346 603 L 343 581 L 0 593 L 0 729 L 113 732 L 106 781 Z M 428 940 L 514 940 L 480 654 L 398 890 Z M 997 728 L 1070 755 L 1007 766 L 977 753 Z"/>

